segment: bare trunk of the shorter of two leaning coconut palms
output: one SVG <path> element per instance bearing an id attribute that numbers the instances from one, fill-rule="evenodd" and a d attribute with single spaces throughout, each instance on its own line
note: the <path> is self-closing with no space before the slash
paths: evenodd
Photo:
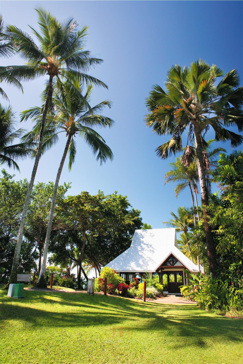
<path id="1" fill-rule="evenodd" d="M 72 138 L 72 135 L 68 134 L 67 143 L 66 143 L 66 146 L 64 148 L 61 163 L 60 163 L 60 166 L 58 168 L 58 173 L 56 175 L 56 181 L 55 181 L 55 186 L 54 186 L 54 191 L 53 191 L 53 196 L 52 196 L 52 201 L 51 201 L 51 211 L 50 211 L 49 221 L 48 221 L 48 225 L 47 225 L 46 241 L 45 241 L 44 250 L 43 250 L 42 266 L 41 266 L 41 269 L 40 269 L 40 275 L 39 275 L 39 280 L 38 280 L 38 286 L 39 287 L 47 287 L 44 276 L 45 276 L 45 271 L 46 271 L 46 261 L 47 261 L 48 247 L 49 247 L 49 242 L 50 242 L 52 221 L 53 221 L 53 218 L 54 218 L 56 195 L 57 195 L 57 190 L 58 190 L 59 179 L 60 179 L 60 176 L 61 176 L 61 173 L 62 173 L 64 161 L 65 161 L 66 156 L 67 156 L 67 151 L 68 151 L 68 147 L 69 147 L 71 138 Z"/>

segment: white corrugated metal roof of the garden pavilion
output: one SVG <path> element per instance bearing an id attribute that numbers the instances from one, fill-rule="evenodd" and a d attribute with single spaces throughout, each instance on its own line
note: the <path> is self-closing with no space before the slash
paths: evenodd
<path id="1" fill-rule="evenodd" d="M 155 272 L 171 253 L 188 270 L 198 271 L 177 248 L 176 229 L 173 228 L 136 230 L 130 248 L 106 266 L 117 272 Z"/>

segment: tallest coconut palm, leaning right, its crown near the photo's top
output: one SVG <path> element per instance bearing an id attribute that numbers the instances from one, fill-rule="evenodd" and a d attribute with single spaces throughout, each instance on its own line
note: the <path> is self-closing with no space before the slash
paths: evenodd
<path id="1" fill-rule="evenodd" d="M 43 107 L 42 122 L 39 133 L 39 145 L 35 155 L 35 163 L 31 174 L 30 183 L 24 202 L 22 218 L 20 221 L 19 233 L 17 237 L 15 255 L 13 258 L 13 265 L 9 277 L 9 283 L 15 283 L 17 279 L 17 269 L 19 265 L 19 256 L 21 243 L 23 238 L 24 223 L 30 201 L 31 190 L 34 184 L 36 170 L 38 167 L 40 154 L 42 151 L 42 139 L 44 132 L 44 125 L 48 111 L 49 102 L 52 97 L 52 83 L 55 79 L 56 83 L 61 82 L 62 79 L 67 80 L 71 88 L 72 82 L 82 81 L 86 83 L 94 83 L 107 87 L 103 82 L 96 78 L 87 75 L 87 72 L 92 66 L 101 63 L 101 59 L 92 58 L 90 52 L 85 50 L 87 27 L 78 30 L 78 24 L 73 19 L 68 19 L 65 22 L 60 22 L 50 12 L 45 11 L 39 7 L 36 9 L 38 14 L 39 32 L 34 28 L 32 32 L 38 39 L 37 45 L 30 35 L 21 31 L 21 29 L 14 25 L 8 25 L 7 35 L 15 44 L 15 50 L 22 59 L 27 63 L 24 66 L 7 66 L 1 67 L 0 77 L 6 82 L 14 82 L 16 79 L 18 83 L 21 81 L 30 81 L 41 76 L 48 76 L 46 88 L 46 100 Z M 79 93 L 78 90 L 76 90 Z M 79 93 L 82 98 L 82 94 Z M 83 99 L 86 102 L 85 99 Z M 87 104 L 87 107 L 89 105 Z"/>

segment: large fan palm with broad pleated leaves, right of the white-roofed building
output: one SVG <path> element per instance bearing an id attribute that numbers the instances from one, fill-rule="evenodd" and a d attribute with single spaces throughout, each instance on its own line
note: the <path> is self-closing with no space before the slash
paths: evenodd
<path id="1" fill-rule="evenodd" d="M 147 126 L 153 127 L 158 135 L 172 136 L 156 149 L 160 158 L 166 159 L 183 150 L 181 135 L 187 129 L 188 138 L 182 160 L 188 166 L 195 155 L 197 158 L 211 277 L 216 275 L 217 262 L 211 227 L 206 217 L 208 191 L 203 155 L 206 142 L 203 136 L 212 127 L 216 141 L 230 140 L 232 147 L 237 147 L 243 141 L 241 135 L 227 129 L 237 126 L 239 131 L 243 130 L 243 87 L 239 87 L 240 77 L 236 70 L 223 76 L 219 67 L 214 64 L 210 67 L 202 60 L 192 62 L 190 67 L 175 65 L 168 71 L 166 92 L 154 85 L 146 100 L 149 111 L 146 116 Z M 219 77 L 223 79 L 216 85 Z M 189 139 L 191 143 L 194 139 L 195 148 L 189 145 Z"/>

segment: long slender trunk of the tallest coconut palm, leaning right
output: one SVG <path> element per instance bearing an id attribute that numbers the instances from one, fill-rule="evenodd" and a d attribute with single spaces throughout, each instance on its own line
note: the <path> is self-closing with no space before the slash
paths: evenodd
<path id="1" fill-rule="evenodd" d="M 26 199 L 24 201 L 24 208 L 23 208 L 22 217 L 21 217 L 21 220 L 20 220 L 19 233 L 18 233 L 18 236 L 17 236 L 15 253 L 14 253 L 14 257 L 13 257 L 13 264 L 12 264 L 12 269 L 11 269 L 11 273 L 10 273 L 10 277 L 9 277 L 9 280 L 8 280 L 7 287 L 9 286 L 9 284 L 17 282 L 17 272 L 18 272 L 18 268 L 19 268 L 19 258 L 20 258 L 20 250 L 21 250 L 22 240 L 23 240 L 24 225 L 25 225 L 25 221 L 26 221 L 28 205 L 29 205 L 29 202 L 30 202 L 31 191 L 32 191 L 32 188 L 33 188 L 33 185 L 34 185 L 35 175 L 36 175 L 36 171 L 37 171 L 37 167 L 38 167 L 38 163 L 39 163 L 40 155 L 41 155 L 41 151 L 42 151 L 42 139 L 43 139 L 43 132 L 44 132 L 44 127 L 45 127 L 45 122 L 46 122 L 46 114 L 47 114 L 48 105 L 49 105 L 51 95 L 52 95 L 52 79 L 53 79 L 53 76 L 50 76 L 48 91 L 47 91 L 47 95 L 46 95 L 46 102 L 45 102 L 45 106 L 44 106 L 44 109 L 43 109 L 42 123 L 41 123 L 41 127 L 40 127 L 38 150 L 37 150 L 37 153 L 36 153 L 36 156 L 35 156 L 35 163 L 34 163 L 34 167 L 33 167 L 33 170 L 32 170 L 30 183 L 28 185 Z"/>

